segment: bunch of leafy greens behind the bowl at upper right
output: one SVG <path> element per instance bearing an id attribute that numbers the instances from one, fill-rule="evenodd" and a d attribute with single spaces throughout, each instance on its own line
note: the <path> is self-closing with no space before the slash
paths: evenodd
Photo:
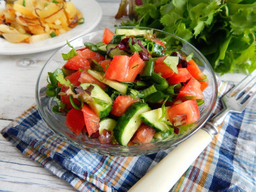
<path id="1" fill-rule="evenodd" d="M 136 19 L 121 26 L 157 28 L 180 36 L 196 46 L 218 73 L 256 69 L 253 0 L 142 0 L 135 13 Z"/>

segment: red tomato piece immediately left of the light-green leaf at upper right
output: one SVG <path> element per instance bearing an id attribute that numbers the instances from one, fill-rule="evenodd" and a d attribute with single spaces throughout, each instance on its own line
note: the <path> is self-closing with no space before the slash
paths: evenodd
<path id="1" fill-rule="evenodd" d="M 155 63 L 155 67 L 154 67 L 154 71 L 156 73 L 161 73 L 162 77 L 164 77 L 165 79 L 172 76 L 174 71 L 172 71 L 172 69 L 170 69 L 170 67 L 168 67 L 165 63 L 164 63 L 164 59 L 167 56 L 163 56 L 163 57 L 159 57 L 158 59 L 156 59 L 156 63 Z"/>

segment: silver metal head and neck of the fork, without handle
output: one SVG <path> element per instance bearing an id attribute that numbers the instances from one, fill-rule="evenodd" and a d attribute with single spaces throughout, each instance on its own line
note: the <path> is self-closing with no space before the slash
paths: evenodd
<path id="1" fill-rule="evenodd" d="M 226 95 L 222 97 L 222 104 L 224 109 L 215 115 L 211 121 L 205 125 L 212 129 L 205 131 L 211 135 L 217 134 L 217 127 L 222 124 L 228 113 L 242 113 L 245 107 L 253 100 L 256 96 L 256 70 L 247 75 L 240 83 L 232 88 Z M 204 128 L 203 128 L 204 129 Z"/>

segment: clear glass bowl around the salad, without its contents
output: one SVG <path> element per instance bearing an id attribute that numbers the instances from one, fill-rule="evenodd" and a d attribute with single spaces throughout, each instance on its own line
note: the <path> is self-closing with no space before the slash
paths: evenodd
<path id="1" fill-rule="evenodd" d="M 59 51 L 54 53 L 50 59 L 46 62 L 36 84 L 36 104 L 40 116 L 48 127 L 60 135 L 65 141 L 72 143 L 77 148 L 84 148 L 90 152 L 96 154 L 109 155 L 109 156 L 141 156 L 146 154 L 152 154 L 161 150 L 166 150 L 181 143 L 198 129 L 200 129 L 205 121 L 210 117 L 212 110 L 216 103 L 217 98 L 217 83 L 216 76 L 210 63 L 207 59 L 189 42 L 174 36 L 173 34 L 163 32 L 160 30 L 154 30 L 157 38 L 164 38 L 167 42 L 169 49 L 174 49 L 180 53 L 189 55 L 193 53 L 193 60 L 199 65 L 201 71 L 207 75 L 209 80 L 209 86 L 203 91 L 205 102 L 199 106 L 200 119 L 195 123 L 195 126 L 190 127 L 187 132 L 179 135 L 178 137 L 166 137 L 162 140 L 156 140 L 153 143 L 145 143 L 137 146 L 119 146 L 119 145 L 106 145 L 101 144 L 98 139 L 91 139 L 86 135 L 75 135 L 65 125 L 65 116 L 57 115 L 53 113 L 52 107 L 55 105 L 53 98 L 46 96 L 47 76 L 48 72 L 53 72 L 57 68 L 61 68 L 66 61 L 63 61 L 61 53 L 68 53 L 70 47 L 65 45 Z M 75 49 L 84 47 L 84 42 L 100 42 L 102 41 L 102 31 L 91 32 L 75 40 L 71 41 L 70 44 Z"/>

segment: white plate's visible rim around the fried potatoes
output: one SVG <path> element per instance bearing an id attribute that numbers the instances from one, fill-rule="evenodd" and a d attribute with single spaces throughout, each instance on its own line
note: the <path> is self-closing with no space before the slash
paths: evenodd
<path id="1" fill-rule="evenodd" d="M 67 40 L 73 40 L 79 36 L 92 31 L 102 18 L 102 9 L 95 0 L 72 0 L 75 7 L 82 12 L 84 24 L 46 40 L 40 40 L 32 44 L 28 43 L 11 43 L 0 38 L 0 55 L 23 55 L 29 53 L 38 53 L 48 51 L 66 44 Z"/>

